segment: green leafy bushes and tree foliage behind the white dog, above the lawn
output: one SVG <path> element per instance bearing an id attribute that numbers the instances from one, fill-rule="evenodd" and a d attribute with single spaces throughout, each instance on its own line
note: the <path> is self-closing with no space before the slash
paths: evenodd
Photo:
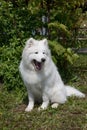
<path id="1" fill-rule="evenodd" d="M 65 39 L 71 38 L 73 28 L 78 25 L 76 23 L 82 13 L 78 7 L 82 1 L 54 0 L 49 3 L 32 0 L 27 4 L 22 0 L 0 1 L 0 78 L 7 89 L 23 86 L 18 66 L 24 43 L 33 35 L 33 31 L 36 31 L 33 35 L 35 38 L 49 37 L 53 60 L 62 75 L 70 72 L 70 64 L 74 63 L 77 55 L 68 48 L 70 43 Z M 48 17 L 46 23 L 41 21 L 43 15 Z M 42 27 L 47 28 L 47 36 L 40 35 L 38 30 Z M 60 37 L 63 42 L 58 39 Z"/>

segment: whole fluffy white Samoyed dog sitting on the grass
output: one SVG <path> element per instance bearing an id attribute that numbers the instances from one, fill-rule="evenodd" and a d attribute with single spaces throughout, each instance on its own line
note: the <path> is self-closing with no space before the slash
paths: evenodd
<path id="1" fill-rule="evenodd" d="M 30 38 L 22 53 L 19 71 L 28 91 L 29 104 L 25 111 L 34 108 L 35 101 L 42 102 L 39 110 L 52 108 L 67 101 L 68 96 L 85 97 L 74 87 L 64 85 L 51 58 L 47 39 Z"/>

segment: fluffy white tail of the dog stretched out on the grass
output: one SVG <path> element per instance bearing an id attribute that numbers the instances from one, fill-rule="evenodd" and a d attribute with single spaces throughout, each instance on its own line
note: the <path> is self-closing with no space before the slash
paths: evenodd
<path id="1" fill-rule="evenodd" d="M 66 86 L 66 92 L 67 92 L 67 96 L 76 96 L 80 98 L 85 97 L 85 94 L 83 94 L 82 92 L 80 92 L 79 90 L 71 86 Z"/>

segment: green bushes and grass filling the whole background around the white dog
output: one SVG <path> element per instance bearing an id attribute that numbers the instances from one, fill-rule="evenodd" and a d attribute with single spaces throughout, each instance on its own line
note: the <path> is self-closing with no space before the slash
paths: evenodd
<path id="1" fill-rule="evenodd" d="M 86 0 L 0 0 L 0 129 L 87 129 L 87 98 L 24 113 L 27 93 L 18 71 L 25 41 L 47 38 L 64 82 L 86 93 L 87 56 L 72 51 L 87 47 L 79 40 L 87 38 L 86 28 Z"/>

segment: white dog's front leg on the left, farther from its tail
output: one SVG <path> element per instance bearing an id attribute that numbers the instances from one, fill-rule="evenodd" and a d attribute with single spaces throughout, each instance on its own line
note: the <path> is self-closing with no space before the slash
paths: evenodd
<path id="1" fill-rule="evenodd" d="M 29 103 L 25 109 L 26 112 L 30 112 L 34 108 L 34 97 L 31 93 L 28 93 L 28 99 L 29 99 Z"/>

